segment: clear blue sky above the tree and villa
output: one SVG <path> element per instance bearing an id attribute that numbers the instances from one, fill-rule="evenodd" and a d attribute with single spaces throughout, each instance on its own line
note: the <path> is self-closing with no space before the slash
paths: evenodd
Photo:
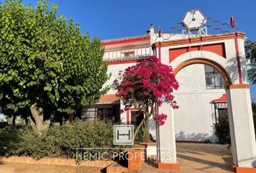
<path id="1" fill-rule="evenodd" d="M 0 0 L 3 1 L 3 0 Z M 36 4 L 36 0 L 25 0 L 25 4 Z M 239 30 L 246 32 L 249 40 L 256 40 L 255 0 L 50 0 L 59 6 L 59 13 L 79 23 L 82 33 L 102 40 L 142 35 L 153 23 L 162 28 L 180 22 L 184 12 L 201 9 L 206 17 L 229 22 L 234 15 Z M 252 97 L 256 98 L 256 86 L 252 86 Z"/>

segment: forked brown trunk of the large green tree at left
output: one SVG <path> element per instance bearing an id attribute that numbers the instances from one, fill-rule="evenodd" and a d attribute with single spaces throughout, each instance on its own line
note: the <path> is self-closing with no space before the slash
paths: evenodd
<path id="1" fill-rule="evenodd" d="M 52 112 L 51 117 L 48 118 L 48 120 L 43 120 L 43 107 L 38 107 L 37 103 L 34 103 L 30 106 L 30 112 L 32 114 L 32 117 L 29 117 L 30 124 L 37 130 L 39 133 L 43 132 L 43 130 L 46 130 L 49 125 L 51 124 L 52 119 L 54 118 L 54 115 L 56 114 L 56 111 Z"/>

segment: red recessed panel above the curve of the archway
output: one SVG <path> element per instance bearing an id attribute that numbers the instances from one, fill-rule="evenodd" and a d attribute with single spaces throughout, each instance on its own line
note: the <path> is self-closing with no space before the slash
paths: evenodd
<path id="1" fill-rule="evenodd" d="M 172 48 L 169 50 L 169 61 L 174 61 L 175 58 L 181 56 L 183 53 L 195 51 L 195 50 L 205 50 L 212 53 L 216 53 L 219 56 L 226 58 L 226 50 L 224 43 L 210 44 L 210 45 L 196 45 L 191 47 L 183 48 Z"/>

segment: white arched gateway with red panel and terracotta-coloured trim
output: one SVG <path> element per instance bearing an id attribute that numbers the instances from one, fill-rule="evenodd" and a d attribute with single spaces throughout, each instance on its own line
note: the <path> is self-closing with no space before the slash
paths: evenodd
<path id="1" fill-rule="evenodd" d="M 189 32 L 189 26 L 187 28 Z M 231 149 L 236 172 L 239 172 L 241 168 L 256 167 L 255 128 L 247 79 L 244 33 L 230 32 L 221 35 L 197 36 L 189 32 L 188 35 L 179 35 L 179 37 L 174 35 L 172 39 L 170 37 L 164 39 L 161 31 L 155 33 L 152 26 L 150 44 L 161 62 L 174 68 L 174 74 L 179 73 L 186 66 L 202 63 L 216 68 L 223 76 L 228 102 Z M 156 166 L 175 169 L 178 163 L 176 161 L 174 112 L 167 104 L 163 104 L 159 108 L 159 113 L 168 114 L 168 119 L 165 125 L 157 127 Z"/>

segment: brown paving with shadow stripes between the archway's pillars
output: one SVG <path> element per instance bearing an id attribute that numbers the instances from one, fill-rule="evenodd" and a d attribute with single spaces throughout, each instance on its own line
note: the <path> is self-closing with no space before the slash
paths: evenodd
<path id="1" fill-rule="evenodd" d="M 177 143 L 177 160 L 180 168 L 171 172 L 231 172 L 231 151 L 225 145 L 205 143 Z M 146 161 L 144 169 L 162 172 L 153 167 L 154 160 Z M 169 172 L 169 171 L 168 171 Z"/>

